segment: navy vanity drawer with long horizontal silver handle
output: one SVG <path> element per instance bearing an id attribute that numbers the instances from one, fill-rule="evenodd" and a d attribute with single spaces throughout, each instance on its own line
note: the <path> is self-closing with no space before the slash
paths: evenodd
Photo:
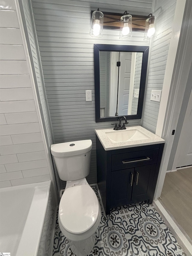
<path id="1" fill-rule="evenodd" d="M 116 154 L 111 156 L 111 170 L 123 170 L 149 164 L 156 164 L 159 149 Z"/>

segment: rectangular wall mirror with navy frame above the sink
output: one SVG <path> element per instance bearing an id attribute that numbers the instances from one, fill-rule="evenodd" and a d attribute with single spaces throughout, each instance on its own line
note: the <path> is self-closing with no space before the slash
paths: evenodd
<path id="1" fill-rule="evenodd" d="M 140 119 L 149 47 L 94 45 L 96 122 Z"/>

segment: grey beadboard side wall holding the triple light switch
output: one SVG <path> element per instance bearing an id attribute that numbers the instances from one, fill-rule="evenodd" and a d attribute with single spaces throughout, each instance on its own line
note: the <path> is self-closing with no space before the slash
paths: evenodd
<path id="1" fill-rule="evenodd" d="M 175 8 L 176 0 L 158 0 L 155 8 L 157 38 L 152 43 L 146 100 L 142 116 L 142 126 L 153 133 L 156 131 L 160 102 L 150 100 L 151 90 L 162 90 L 163 88 Z"/>

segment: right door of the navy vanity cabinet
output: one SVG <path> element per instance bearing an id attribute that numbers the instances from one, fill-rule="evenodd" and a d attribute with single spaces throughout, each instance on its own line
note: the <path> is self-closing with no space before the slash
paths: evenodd
<path id="1" fill-rule="evenodd" d="M 151 199 L 156 164 L 136 167 L 131 201 L 139 202 Z"/>

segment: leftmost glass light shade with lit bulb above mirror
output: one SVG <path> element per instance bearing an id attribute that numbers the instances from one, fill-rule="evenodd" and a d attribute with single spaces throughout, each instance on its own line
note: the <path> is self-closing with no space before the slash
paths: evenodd
<path id="1" fill-rule="evenodd" d="M 94 11 L 91 18 L 91 27 L 89 35 L 94 38 L 100 38 L 103 35 L 104 15 L 100 11 Z"/>

